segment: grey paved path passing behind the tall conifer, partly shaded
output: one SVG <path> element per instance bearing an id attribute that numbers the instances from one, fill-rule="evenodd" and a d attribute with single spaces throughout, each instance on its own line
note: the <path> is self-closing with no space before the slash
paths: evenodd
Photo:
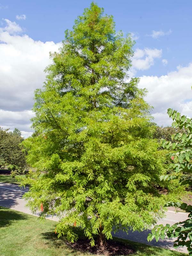
<path id="1" fill-rule="evenodd" d="M 22 199 L 22 196 L 27 191 L 28 191 L 28 188 L 21 189 L 18 187 L 18 185 L 0 182 L 0 206 L 4 206 L 20 212 L 32 214 L 31 211 L 27 207 L 25 207 L 26 201 Z M 36 215 L 38 216 L 39 212 L 37 212 Z M 173 210 L 168 210 L 166 212 L 166 217 L 164 219 L 159 220 L 157 224 L 165 225 L 169 223 L 170 225 L 173 225 L 178 221 L 187 219 L 187 216 L 188 216 L 188 213 L 186 212 L 176 213 L 174 212 L 174 208 L 173 208 Z M 47 219 L 58 221 L 57 216 L 47 216 Z M 130 231 L 129 234 L 127 235 L 126 233 L 120 231 L 119 233 L 116 233 L 114 236 L 132 240 L 139 243 L 143 243 L 143 244 L 150 244 L 153 246 L 159 246 L 159 247 L 164 247 L 166 249 L 174 250 L 173 240 L 171 239 L 164 239 L 164 240 L 160 239 L 158 242 L 153 240 L 152 242 L 148 243 L 147 236 L 149 232 L 150 230 L 144 230 L 143 232 Z M 176 251 L 187 252 L 187 248 L 180 247 L 180 248 L 177 248 Z"/>

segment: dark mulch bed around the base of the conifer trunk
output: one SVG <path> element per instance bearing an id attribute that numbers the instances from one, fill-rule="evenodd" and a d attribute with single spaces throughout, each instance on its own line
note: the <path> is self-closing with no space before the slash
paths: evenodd
<path id="1" fill-rule="evenodd" d="M 95 244 L 95 246 L 91 247 L 90 241 L 79 239 L 75 243 L 70 243 L 69 246 L 81 252 L 90 252 L 92 254 L 107 255 L 107 256 L 108 255 L 110 256 L 130 255 L 135 252 L 131 248 L 131 246 L 114 242 L 114 241 L 107 241 L 105 246 L 100 248 L 98 244 Z"/>

